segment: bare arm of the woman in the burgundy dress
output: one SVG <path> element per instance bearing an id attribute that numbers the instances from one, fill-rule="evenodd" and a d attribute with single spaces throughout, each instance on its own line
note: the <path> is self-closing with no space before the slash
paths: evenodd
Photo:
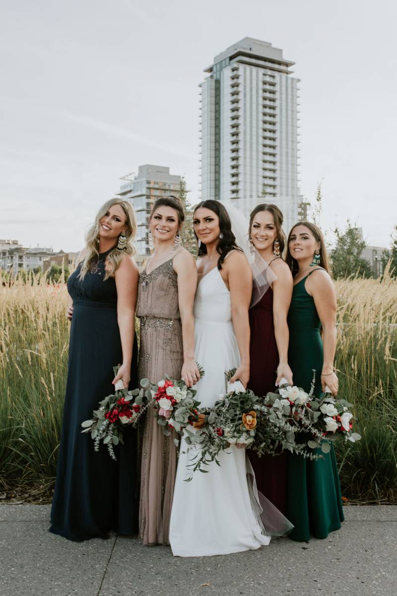
<path id="1" fill-rule="evenodd" d="M 288 365 L 289 329 L 287 325 L 287 314 L 292 298 L 292 275 L 288 265 L 281 259 L 274 261 L 272 269 L 277 275 L 277 280 L 273 282 L 274 336 L 279 352 L 276 385 L 283 377 L 292 385 L 292 371 Z"/>

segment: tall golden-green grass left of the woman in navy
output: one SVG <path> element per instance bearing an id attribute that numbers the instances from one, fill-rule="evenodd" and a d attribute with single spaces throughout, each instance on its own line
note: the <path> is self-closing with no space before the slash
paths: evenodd
<path id="1" fill-rule="evenodd" d="M 64 283 L 0 278 L 0 482 L 51 483 L 67 373 Z"/>

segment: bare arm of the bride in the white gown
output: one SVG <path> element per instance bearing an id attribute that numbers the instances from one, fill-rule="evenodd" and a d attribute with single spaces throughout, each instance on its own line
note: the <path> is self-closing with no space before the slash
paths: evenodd
<path id="1" fill-rule="evenodd" d="M 240 379 L 246 387 L 249 381 L 249 319 L 248 309 L 252 294 L 252 274 L 249 263 L 243 253 L 233 251 L 223 262 L 229 283 L 232 302 L 232 322 L 240 352 L 240 366 L 230 379 L 233 383 Z M 223 277 L 223 276 L 222 276 Z"/>

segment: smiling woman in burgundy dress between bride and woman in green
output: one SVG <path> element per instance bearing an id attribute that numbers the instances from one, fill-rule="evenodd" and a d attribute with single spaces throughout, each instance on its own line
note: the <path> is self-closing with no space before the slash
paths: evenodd
<path id="1" fill-rule="evenodd" d="M 283 214 L 273 204 L 257 205 L 249 220 L 249 238 L 267 262 L 277 280 L 249 310 L 251 362 L 248 387 L 256 395 L 275 391 L 282 377 L 292 384 L 287 361 L 289 331 L 287 312 L 292 297 L 292 275 L 282 258 L 285 233 Z M 262 455 L 248 452 L 258 490 L 283 514 L 286 513 L 286 454 Z"/>

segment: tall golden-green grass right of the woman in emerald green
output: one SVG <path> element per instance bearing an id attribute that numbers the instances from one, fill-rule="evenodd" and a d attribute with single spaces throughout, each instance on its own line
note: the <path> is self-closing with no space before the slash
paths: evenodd
<path id="1" fill-rule="evenodd" d="M 397 499 L 397 280 L 336 281 L 340 395 L 355 405 L 362 440 L 339 445 L 343 491 L 370 502 Z"/>

